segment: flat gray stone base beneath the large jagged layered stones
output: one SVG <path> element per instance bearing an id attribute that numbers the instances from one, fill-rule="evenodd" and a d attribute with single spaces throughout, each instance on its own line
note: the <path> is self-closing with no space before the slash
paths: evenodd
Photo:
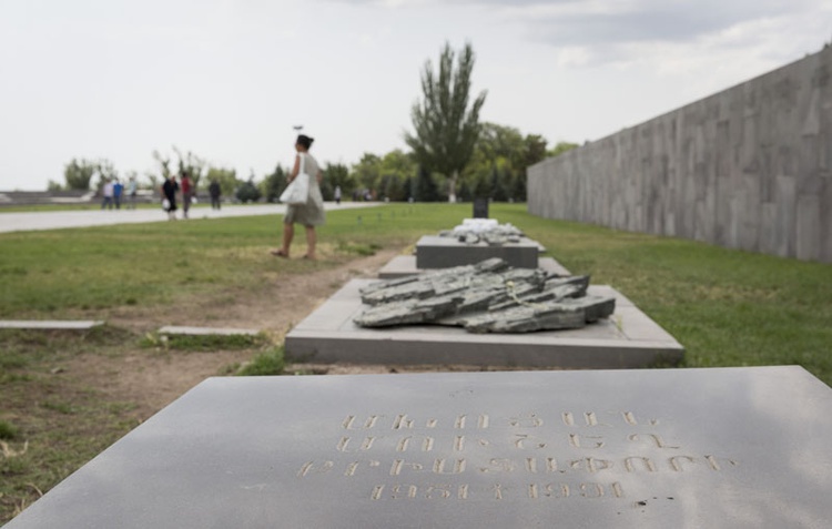
<path id="1" fill-rule="evenodd" d="M 353 279 L 286 335 L 292 357 L 354 364 L 629 368 L 676 363 L 684 348 L 615 288 L 590 285 L 589 294 L 616 297 L 616 312 L 581 329 L 522 335 L 478 335 L 457 327 L 415 325 L 362 328 L 358 291 L 369 279 Z"/>

